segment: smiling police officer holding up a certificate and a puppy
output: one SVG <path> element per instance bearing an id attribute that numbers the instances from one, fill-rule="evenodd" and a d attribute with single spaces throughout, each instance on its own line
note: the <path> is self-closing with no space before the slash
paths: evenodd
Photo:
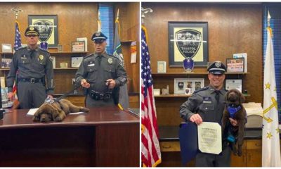
<path id="1" fill-rule="evenodd" d="M 214 122 L 221 124 L 223 109 L 225 107 L 226 89 L 223 82 L 226 75 L 226 66 L 221 61 L 215 61 L 207 68 L 209 71 L 209 86 L 195 91 L 188 101 L 180 107 L 181 118 L 185 122 L 192 122 L 200 125 L 204 122 Z M 233 126 L 237 121 L 230 119 Z M 221 154 L 206 154 L 199 152 L 195 158 L 197 167 L 229 167 L 230 166 L 230 147 L 223 137 L 223 151 Z"/>

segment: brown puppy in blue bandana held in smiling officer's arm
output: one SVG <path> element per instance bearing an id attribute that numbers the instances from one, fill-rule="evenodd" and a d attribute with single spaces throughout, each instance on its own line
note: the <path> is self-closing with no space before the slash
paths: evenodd
<path id="1" fill-rule="evenodd" d="M 243 94 L 237 89 L 230 89 L 226 94 L 226 108 L 223 111 L 222 132 L 227 137 L 230 147 L 235 155 L 242 156 L 244 140 L 244 125 L 247 122 L 247 113 L 242 103 L 245 101 Z M 233 126 L 229 118 L 237 120 Z"/>

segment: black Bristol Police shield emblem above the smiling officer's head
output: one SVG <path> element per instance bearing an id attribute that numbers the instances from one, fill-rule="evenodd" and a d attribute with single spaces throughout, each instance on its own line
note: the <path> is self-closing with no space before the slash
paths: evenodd
<path id="1" fill-rule="evenodd" d="M 202 42 L 202 33 L 197 30 L 184 29 L 176 32 L 176 46 L 185 58 L 193 58 Z"/>

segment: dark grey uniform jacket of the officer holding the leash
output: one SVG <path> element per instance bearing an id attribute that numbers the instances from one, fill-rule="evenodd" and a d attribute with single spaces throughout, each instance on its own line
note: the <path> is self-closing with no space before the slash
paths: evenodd
<path id="1" fill-rule="evenodd" d="M 98 56 L 91 54 L 86 56 L 75 75 L 77 84 L 81 84 L 82 79 L 86 79 L 91 84 L 87 94 L 95 91 L 100 94 L 110 92 L 105 81 L 113 79 L 116 82 L 115 88 L 126 84 L 126 70 L 119 64 L 117 58 L 106 53 Z"/>

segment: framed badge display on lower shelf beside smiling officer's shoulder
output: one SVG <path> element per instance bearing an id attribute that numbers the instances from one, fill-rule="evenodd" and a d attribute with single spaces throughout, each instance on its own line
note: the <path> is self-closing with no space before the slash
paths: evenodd
<path id="1" fill-rule="evenodd" d="M 192 94 L 204 87 L 204 78 L 175 78 L 174 94 Z"/>

